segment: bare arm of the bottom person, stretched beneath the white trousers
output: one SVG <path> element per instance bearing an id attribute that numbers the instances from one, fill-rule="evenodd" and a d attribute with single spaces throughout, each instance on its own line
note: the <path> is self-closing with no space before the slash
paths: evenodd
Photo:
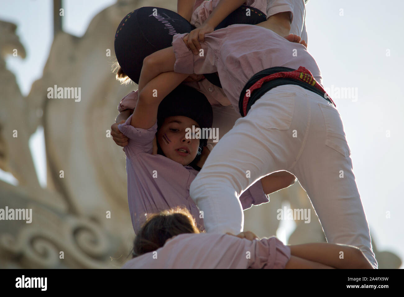
<path id="1" fill-rule="evenodd" d="M 352 246 L 321 242 L 298 244 L 289 247 L 290 253 L 293 256 L 337 269 L 372 269 L 363 253 L 358 248 Z"/>

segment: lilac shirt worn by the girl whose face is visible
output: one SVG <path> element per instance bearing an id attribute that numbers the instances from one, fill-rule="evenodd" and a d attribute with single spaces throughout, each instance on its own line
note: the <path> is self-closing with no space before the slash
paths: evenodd
<path id="1" fill-rule="evenodd" d="M 191 166 L 183 166 L 162 155 L 152 155 L 157 122 L 149 129 L 130 125 L 131 115 L 118 129 L 129 138 L 124 147 L 128 176 L 128 205 L 133 229 L 137 233 L 149 214 L 183 206 L 195 217 L 203 230 L 199 208 L 189 196 L 191 182 L 198 174 Z M 240 196 L 243 209 L 269 202 L 261 181 L 255 182 Z"/>

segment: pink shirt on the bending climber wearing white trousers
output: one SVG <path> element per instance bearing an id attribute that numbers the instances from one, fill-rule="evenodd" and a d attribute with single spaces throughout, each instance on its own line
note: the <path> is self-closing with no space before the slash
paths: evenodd
<path id="1" fill-rule="evenodd" d="M 188 50 L 182 39 L 186 34 L 173 37 L 174 71 L 188 74 L 218 72 L 223 91 L 236 111 L 247 81 L 267 68 L 303 66 L 322 84 L 320 69 L 303 45 L 289 42 L 263 27 L 237 24 L 205 34 L 205 41 L 201 43 L 203 56 Z"/>

